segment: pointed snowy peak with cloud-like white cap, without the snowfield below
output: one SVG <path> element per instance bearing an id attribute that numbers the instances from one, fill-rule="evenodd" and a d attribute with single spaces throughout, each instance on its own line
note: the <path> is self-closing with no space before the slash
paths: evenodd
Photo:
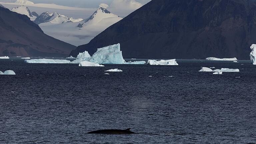
<path id="1" fill-rule="evenodd" d="M 100 4 L 99 8 L 89 18 L 85 19 L 83 23 L 80 23 L 78 27 L 83 28 L 89 25 L 110 26 L 109 24 L 114 24 L 122 19 L 118 15 L 112 14 L 108 11 L 106 9 L 107 7 L 107 4 Z"/>

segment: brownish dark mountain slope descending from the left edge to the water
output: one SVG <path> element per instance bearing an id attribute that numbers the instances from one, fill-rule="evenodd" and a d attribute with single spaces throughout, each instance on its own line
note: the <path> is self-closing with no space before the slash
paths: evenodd
<path id="1" fill-rule="evenodd" d="M 50 37 L 26 15 L 0 7 L 0 56 L 67 56 L 75 46 Z"/>

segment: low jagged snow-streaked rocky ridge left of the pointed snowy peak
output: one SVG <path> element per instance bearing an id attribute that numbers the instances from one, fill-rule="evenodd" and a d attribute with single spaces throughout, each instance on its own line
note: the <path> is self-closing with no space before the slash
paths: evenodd
<path id="1" fill-rule="evenodd" d="M 66 23 L 66 22 L 80 22 L 80 21 L 83 21 L 83 19 L 81 19 L 81 18 L 74 19 L 72 17 L 69 18 L 65 15 L 61 15 L 56 12 L 54 12 L 54 13 L 44 12 L 40 16 L 38 16 L 34 22 L 36 24 L 46 23 L 46 22 L 49 22 L 52 24 L 61 24 L 61 23 Z"/>

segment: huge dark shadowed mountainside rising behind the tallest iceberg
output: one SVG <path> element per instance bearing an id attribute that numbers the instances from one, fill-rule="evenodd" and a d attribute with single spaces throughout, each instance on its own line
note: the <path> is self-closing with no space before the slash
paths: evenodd
<path id="1" fill-rule="evenodd" d="M 255 0 L 152 0 L 71 55 L 120 43 L 125 58 L 249 59 L 255 13 Z"/>

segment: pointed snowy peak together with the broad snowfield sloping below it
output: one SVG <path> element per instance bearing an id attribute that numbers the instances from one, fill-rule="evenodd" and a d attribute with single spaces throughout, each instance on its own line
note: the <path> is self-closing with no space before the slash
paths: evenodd
<path id="1" fill-rule="evenodd" d="M 100 4 L 89 18 L 81 22 L 41 23 L 39 26 L 44 33 L 59 40 L 76 46 L 86 44 L 103 30 L 122 19 L 108 11 L 107 7 L 106 4 Z"/>

